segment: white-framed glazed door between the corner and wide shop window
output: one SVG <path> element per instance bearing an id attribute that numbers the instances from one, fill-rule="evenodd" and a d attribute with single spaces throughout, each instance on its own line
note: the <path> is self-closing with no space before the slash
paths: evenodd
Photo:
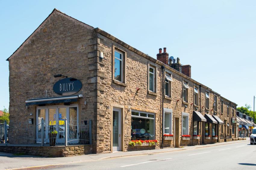
<path id="1" fill-rule="evenodd" d="M 113 109 L 113 151 L 120 151 L 121 144 L 121 110 Z"/>

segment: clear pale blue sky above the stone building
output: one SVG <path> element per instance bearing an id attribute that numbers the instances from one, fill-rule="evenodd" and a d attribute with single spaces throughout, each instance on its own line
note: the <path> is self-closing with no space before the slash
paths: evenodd
<path id="1" fill-rule="evenodd" d="M 9 107 L 5 59 L 54 8 L 154 58 L 167 47 L 169 56 L 192 66 L 193 79 L 239 106 L 253 107 L 256 1 L 0 0 L 0 7 L 0 109 Z"/>

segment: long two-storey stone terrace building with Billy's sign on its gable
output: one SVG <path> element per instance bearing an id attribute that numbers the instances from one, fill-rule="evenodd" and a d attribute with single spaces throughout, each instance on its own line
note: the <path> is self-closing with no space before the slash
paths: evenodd
<path id="1" fill-rule="evenodd" d="M 7 60 L 10 124 L 25 125 L 30 118 L 35 124 L 40 118 L 49 124 L 54 114 L 70 119 L 75 113 L 80 124 L 92 120 L 94 153 L 236 138 L 236 103 L 192 79 L 190 65 L 169 59 L 166 48 L 152 58 L 59 10 L 54 9 Z M 56 93 L 60 74 L 68 82 L 59 83 Z M 73 79 L 81 87 L 71 89 Z M 173 140 L 163 140 L 163 133 L 172 134 Z M 130 146 L 135 139 L 159 143 Z"/>

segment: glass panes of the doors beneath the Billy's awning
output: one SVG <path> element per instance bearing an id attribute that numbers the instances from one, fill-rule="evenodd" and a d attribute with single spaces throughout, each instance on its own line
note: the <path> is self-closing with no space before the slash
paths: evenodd
<path id="1" fill-rule="evenodd" d="M 49 143 L 49 133 L 57 131 L 56 143 L 65 143 L 65 119 L 67 118 L 67 134 L 70 136 L 70 128 L 77 125 L 78 106 L 51 106 L 51 107 L 38 107 L 36 112 L 37 117 L 37 141 L 41 142 L 40 126 L 42 118 L 45 122 L 44 127 L 44 143 Z M 77 130 L 74 133 L 78 133 Z M 73 132 L 72 132 L 73 134 Z M 78 136 L 77 134 L 73 136 Z"/>

